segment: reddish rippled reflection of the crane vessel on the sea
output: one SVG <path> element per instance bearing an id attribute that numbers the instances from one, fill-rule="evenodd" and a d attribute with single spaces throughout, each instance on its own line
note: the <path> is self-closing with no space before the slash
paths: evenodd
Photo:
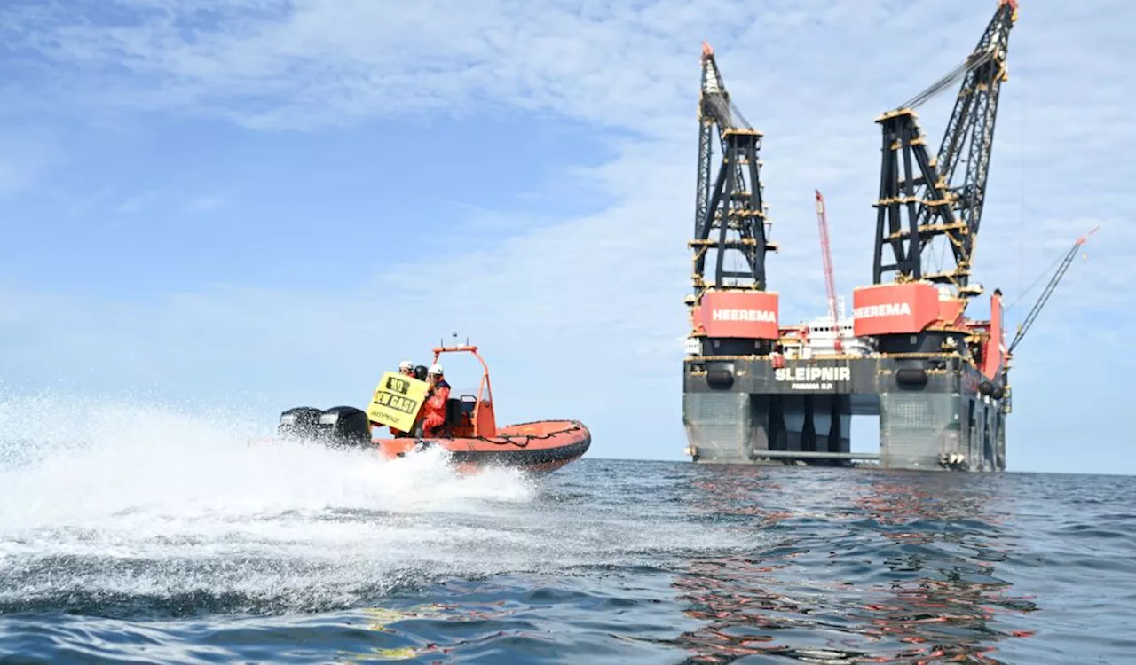
<path id="1" fill-rule="evenodd" d="M 704 623 L 675 646 L 687 663 L 1001 663 L 997 643 L 1029 635 L 1013 623 L 1037 607 L 999 579 L 1014 544 L 1000 497 L 977 487 L 945 473 L 704 468 L 692 507 L 771 539 L 690 561 L 673 587 Z"/>

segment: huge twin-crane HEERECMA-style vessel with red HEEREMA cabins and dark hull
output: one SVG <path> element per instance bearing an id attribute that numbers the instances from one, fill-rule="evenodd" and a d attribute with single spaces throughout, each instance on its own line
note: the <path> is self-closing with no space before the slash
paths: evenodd
<path id="1" fill-rule="evenodd" d="M 971 259 L 1017 9 L 1016 0 L 1001 0 L 962 65 L 876 118 L 883 163 L 872 284 L 854 289 L 851 320 L 837 314 L 817 193 L 829 315 L 796 327 L 779 326 L 778 294 L 767 289 L 766 255 L 777 246 L 768 237 L 759 177 L 762 134 L 730 102 L 713 50 L 703 43 L 683 381 L 693 461 L 1005 469 L 1013 347 L 1084 242 L 1074 245 L 1010 345 L 999 291 L 988 296 L 988 320 L 967 317 L 968 303 L 983 294 L 971 281 Z M 960 79 L 932 155 L 914 108 Z M 716 137 L 722 154 L 711 180 Z M 946 267 L 930 271 L 928 256 L 939 250 Z M 728 253 L 740 255 L 744 269 L 727 269 Z M 851 419 L 861 414 L 879 418 L 878 453 L 851 452 Z"/>

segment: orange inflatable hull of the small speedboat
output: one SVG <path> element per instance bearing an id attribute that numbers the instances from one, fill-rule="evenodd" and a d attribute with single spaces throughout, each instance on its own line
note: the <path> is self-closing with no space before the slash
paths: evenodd
<path id="1" fill-rule="evenodd" d="M 579 421 L 543 420 L 499 428 L 494 437 L 376 438 L 373 443 L 387 460 L 440 447 L 460 470 L 506 466 L 546 473 L 583 456 L 592 445 L 592 435 Z"/>

